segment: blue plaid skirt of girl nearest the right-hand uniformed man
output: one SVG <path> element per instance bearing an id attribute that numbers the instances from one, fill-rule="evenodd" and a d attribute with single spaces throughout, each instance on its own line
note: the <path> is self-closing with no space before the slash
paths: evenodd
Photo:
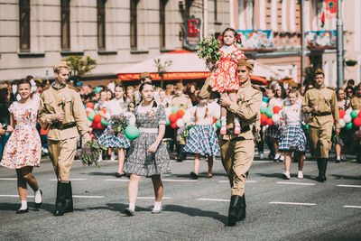
<path id="1" fill-rule="evenodd" d="M 306 151 L 307 139 L 301 124 L 286 125 L 278 144 L 279 151 L 287 151 L 293 147 L 299 152 Z"/>

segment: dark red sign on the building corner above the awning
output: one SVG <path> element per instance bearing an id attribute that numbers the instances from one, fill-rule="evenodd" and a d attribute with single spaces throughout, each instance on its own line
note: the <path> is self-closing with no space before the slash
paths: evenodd
<path id="1" fill-rule="evenodd" d="M 196 51 L 200 42 L 200 18 L 191 16 L 184 20 L 183 47 Z"/>

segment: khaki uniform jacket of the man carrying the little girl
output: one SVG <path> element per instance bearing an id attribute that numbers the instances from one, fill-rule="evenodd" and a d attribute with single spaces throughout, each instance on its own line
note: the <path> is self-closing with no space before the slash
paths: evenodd
<path id="1" fill-rule="evenodd" d="M 203 87 L 200 89 L 199 96 L 210 97 L 211 88 L 209 87 L 210 79 L 206 79 Z M 251 80 L 248 79 L 236 92 L 237 104 L 233 103 L 228 107 L 227 111 L 227 129 L 234 128 L 234 116 L 238 116 L 241 127 L 249 126 L 250 130 L 241 134 L 232 134 L 231 136 L 225 134 L 220 138 L 236 138 L 243 137 L 245 139 L 253 139 L 252 127 L 257 120 L 258 113 L 262 104 L 262 92 L 251 84 Z"/>

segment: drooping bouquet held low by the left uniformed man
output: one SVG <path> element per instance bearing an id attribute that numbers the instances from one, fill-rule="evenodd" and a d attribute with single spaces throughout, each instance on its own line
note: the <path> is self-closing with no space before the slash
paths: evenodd
<path id="1" fill-rule="evenodd" d="M 88 141 L 88 143 L 84 144 L 82 148 L 80 148 L 75 154 L 84 165 L 90 166 L 91 164 L 95 164 L 97 167 L 100 167 L 97 160 L 103 151 L 106 151 L 106 147 L 102 144 L 99 144 L 97 140 L 92 139 Z"/>

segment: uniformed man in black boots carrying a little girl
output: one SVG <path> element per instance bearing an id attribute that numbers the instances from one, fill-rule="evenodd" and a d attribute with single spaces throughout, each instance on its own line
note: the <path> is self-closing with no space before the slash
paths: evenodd
<path id="1" fill-rule="evenodd" d="M 228 210 L 228 226 L 235 226 L 245 218 L 245 179 L 255 156 L 254 134 L 257 113 L 262 103 L 262 92 L 251 84 L 253 65 L 245 60 L 238 61 L 237 78 L 241 87 L 236 93 L 236 102 L 228 96 L 220 98 L 220 105 L 227 107 L 227 134 L 219 136 L 220 156 L 231 186 L 231 201 Z M 199 95 L 210 97 L 209 79 Z M 234 134 L 234 116 L 241 123 L 241 133 Z"/>

